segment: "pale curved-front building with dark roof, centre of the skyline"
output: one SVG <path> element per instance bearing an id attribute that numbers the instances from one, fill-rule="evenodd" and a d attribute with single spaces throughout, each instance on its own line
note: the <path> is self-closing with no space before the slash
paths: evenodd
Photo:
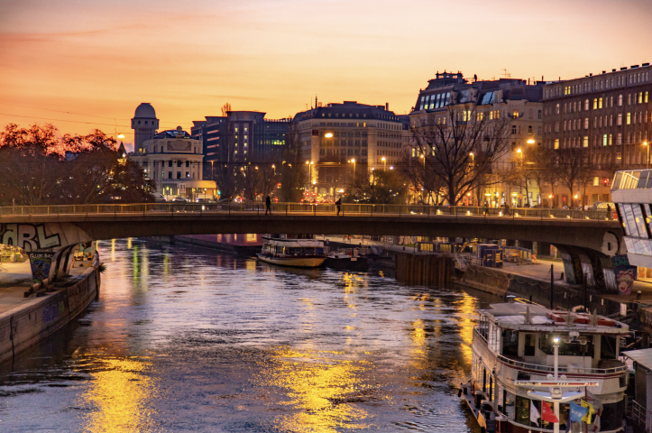
<path id="1" fill-rule="evenodd" d="M 357 173 L 388 169 L 399 163 L 409 119 L 396 115 L 389 105 L 368 106 L 355 101 L 317 103 L 298 113 L 302 159 L 317 194 L 335 198 L 335 189 Z"/>

